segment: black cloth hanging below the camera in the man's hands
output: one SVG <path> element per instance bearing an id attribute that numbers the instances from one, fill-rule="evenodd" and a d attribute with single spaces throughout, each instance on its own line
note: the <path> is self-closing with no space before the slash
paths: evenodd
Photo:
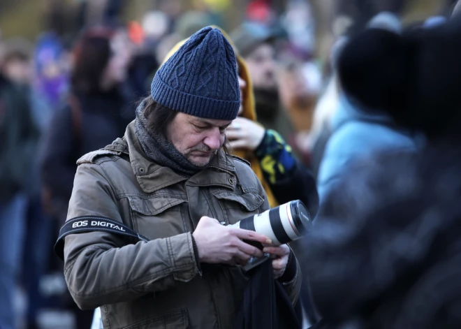
<path id="1" fill-rule="evenodd" d="M 274 279 L 272 263 L 265 261 L 251 270 L 250 275 L 234 328 L 301 328 L 290 298 L 282 284 Z"/>

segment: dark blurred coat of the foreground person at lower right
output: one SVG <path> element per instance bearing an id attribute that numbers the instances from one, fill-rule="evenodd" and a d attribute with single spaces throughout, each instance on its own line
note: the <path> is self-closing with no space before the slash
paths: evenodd
<path id="1" fill-rule="evenodd" d="M 321 205 L 302 272 L 316 328 L 461 328 L 461 150 L 356 163 Z"/>

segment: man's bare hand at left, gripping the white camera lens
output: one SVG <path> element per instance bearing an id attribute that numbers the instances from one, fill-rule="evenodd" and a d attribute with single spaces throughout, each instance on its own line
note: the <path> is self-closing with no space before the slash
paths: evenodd
<path id="1" fill-rule="evenodd" d="M 202 217 L 192 235 L 196 240 L 200 263 L 244 265 L 251 256 L 263 256 L 263 251 L 242 240 L 272 243 L 265 235 L 242 228 L 222 226 L 219 221 L 210 217 Z"/>

